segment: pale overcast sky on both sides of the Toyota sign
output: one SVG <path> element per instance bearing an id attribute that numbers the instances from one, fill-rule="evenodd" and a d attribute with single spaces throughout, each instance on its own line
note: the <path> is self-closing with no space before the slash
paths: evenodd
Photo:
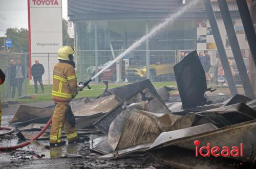
<path id="1" fill-rule="evenodd" d="M 62 17 L 67 20 L 68 0 L 62 0 Z M 0 0 L 0 36 L 7 28 L 28 28 L 27 0 Z"/>

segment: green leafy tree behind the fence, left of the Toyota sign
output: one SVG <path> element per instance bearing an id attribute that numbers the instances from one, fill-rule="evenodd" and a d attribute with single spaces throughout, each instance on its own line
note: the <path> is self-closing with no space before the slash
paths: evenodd
<path id="1" fill-rule="evenodd" d="M 13 52 L 29 52 L 29 34 L 25 28 L 8 28 L 6 38 L 12 40 Z"/>

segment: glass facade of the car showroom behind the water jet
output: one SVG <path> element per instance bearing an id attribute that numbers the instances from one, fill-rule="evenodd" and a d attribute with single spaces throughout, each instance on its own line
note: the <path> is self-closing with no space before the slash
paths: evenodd
<path id="1" fill-rule="evenodd" d="M 81 76 L 86 74 L 90 67 L 95 65 L 100 67 L 113 60 L 120 54 L 120 50 L 127 49 L 160 22 L 162 22 L 160 19 L 82 20 L 74 22 L 75 50 L 79 51 L 77 52 L 77 62 Z M 196 35 L 196 19 L 176 20 L 172 25 L 167 26 L 148 40 L 147 43 L 141 44 L 135 51 L 129 53 L 126 56 L 129 58 L 128 65 L 145 65 L 145 56 L 148 50 L 151 51 L 148 54 L 150 55 L 150 64 L 159 62 L 159 60 L 174 63 L 176 53 L 170 50 L 196 49 Z M 160 54 L 159 50 L 163 52 Z"/>

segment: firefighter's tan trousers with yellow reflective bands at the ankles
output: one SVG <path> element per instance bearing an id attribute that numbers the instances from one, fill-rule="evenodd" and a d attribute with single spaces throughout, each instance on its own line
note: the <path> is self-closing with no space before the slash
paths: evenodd
<path id="1" fill-rule="evenodd" d="M 50 143 L 61 142 L 62 126 L 65 128 L 66 136 L 69 142 L 75 140 L 78 137 L 76 129 L 73 128 L 67 120 L 66 114 L 68 112 L 68 108 L 68 103 L 55 102 L 50 133 Z"/>

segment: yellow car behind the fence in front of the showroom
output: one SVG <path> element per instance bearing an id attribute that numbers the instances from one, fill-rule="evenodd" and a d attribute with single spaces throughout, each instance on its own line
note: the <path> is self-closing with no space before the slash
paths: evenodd
<path id="1" fill-rule="evenodd" d="M 155 81 L 157 78 L 162 77 L 163 81 L 169 78 L 174 78 L 174 63 L 161 63 L 157 62 L 150 65 L 150 81 Z M 146 78 L 146 66 L 128 66 L 125 70 L 126 78 L 129 82 L 136 79 Z M 174 79 L 175 80 L 175 79 Z"/>

